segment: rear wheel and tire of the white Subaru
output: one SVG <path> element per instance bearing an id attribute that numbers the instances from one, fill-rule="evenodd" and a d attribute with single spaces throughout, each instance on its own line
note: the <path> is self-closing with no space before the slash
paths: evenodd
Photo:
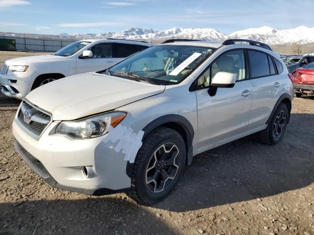
<path id="1" fill-rule="evenodd" d="M 267 128 L 258 133 L 259 140 L 266 144 L 276 144 L 283 138 L 290 118 L 287 105 L 280 103 Z"/>

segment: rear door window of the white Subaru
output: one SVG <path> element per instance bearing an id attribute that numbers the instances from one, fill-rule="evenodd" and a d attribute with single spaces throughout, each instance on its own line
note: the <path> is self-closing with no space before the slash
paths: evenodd
<path id="1" fill-rule="evenodd" d="M 251 66 L 251 77 L 262 77 L 270 75 L 268 56 L 265 53 L 249 50 L 249 61 Z"/>

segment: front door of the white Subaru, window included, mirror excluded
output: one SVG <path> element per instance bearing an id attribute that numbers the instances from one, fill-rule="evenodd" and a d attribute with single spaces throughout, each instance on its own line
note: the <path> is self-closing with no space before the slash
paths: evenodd
<path id="1" fill-rule="evenodd" d="M 198 131 L 197 148 L 248 131 L 252 105 L 252 83 L 243 50 L 232 50 L 219 56 L 197 80 Z M 210 96 L 211 78 L 219 71 L 236 74 L 233 88 L 218 88 Z"/>

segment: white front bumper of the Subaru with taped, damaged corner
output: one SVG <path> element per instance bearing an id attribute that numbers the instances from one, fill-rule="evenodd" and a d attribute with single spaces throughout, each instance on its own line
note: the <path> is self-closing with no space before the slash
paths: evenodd
<path id="1" fill-rule="evenodd" d="M 40 162 L 40 165 L 29 164 L 36 161 L 25 160 L 47 183 L 55 188 L 92 195 L 125 191 L 131 187 L 124 154 L 115 152 L 114 146 L 103 142 L 102 138 L 74 140 L 65 135 L 50 135 L 58 123 L 52 122 L 39 140 L 27 134 L 18 118 L 12 124 L 13 135 L 19 143 L 17 150 L 24 159 Z M 93 177 L 84 176 L 84 166 L 93 168 Z"/>

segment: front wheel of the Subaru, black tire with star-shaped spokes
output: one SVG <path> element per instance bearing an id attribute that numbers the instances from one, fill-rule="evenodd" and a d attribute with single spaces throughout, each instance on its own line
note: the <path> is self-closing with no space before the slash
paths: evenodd
<path id="1" fill-rule="evenodd" d="M 166 151 L 170 152 L 165 154 Z M 131 175 L 131 197 L 144 205 L 163 200 L 178 183 L 185 159 L 182 136 L 170 128 L 155 129 L 144 139 L 136 155 Z"/>

